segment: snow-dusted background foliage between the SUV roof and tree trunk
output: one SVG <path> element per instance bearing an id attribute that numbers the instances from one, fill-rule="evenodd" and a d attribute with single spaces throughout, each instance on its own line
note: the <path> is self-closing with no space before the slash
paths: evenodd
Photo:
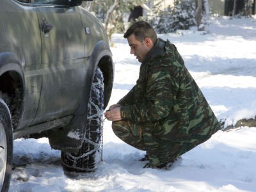
<path id="1" fill-rule="evenodd" d="M 134 6 L 149 2 L 150 0 L 94 0 L 83 6 L 88 8 L 90 4 L 88 10 L 101 20 L 111 38 L 113 33 L 124 33 L 124 22 L 126 22 L 123 18 L 124 13 L 131 12 Z M 154 26 L 157 33 L 170 33 L 177 29 L 189 29 L 195 26 L 194 0 L 175 0 L 174 4 L 174 7 L 168 6 L 165 10 L 160 10 L 159 4 L 155 5 L 152 13 L 137 20 L 146 20 Z"/>

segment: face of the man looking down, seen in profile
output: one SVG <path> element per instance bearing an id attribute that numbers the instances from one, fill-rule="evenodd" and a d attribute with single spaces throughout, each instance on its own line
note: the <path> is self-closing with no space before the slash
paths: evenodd
<path id="1" fill-rule="evenodd" d="M 136 56 L 136 59 L 138 59 L 139 62 L 143 62 L 145 60 L 145 56 L 147 55 L 148 51 L 152 48 L 152 45 L 148 44 L 148 38 L 145 38 L 143 42 L 140 42 L 136 39 L 136 37 L 132 34 L 128 36 L 127 38 L 128 44 L 131 47 L 131 54 L 134 54 Z"/>

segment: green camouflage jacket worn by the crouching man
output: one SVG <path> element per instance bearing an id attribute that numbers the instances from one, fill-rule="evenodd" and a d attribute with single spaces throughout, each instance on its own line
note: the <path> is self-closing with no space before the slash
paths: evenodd
<path id="1" fill-rule="evenodd" d="M 198 145 L 220 129 L 175 45 L 161 38 L 141 63 L 136 85 L 118 103 L 123 119 L 141 125 L 153 164 L 164 163 L 168 145 L 193 141 Z"/>

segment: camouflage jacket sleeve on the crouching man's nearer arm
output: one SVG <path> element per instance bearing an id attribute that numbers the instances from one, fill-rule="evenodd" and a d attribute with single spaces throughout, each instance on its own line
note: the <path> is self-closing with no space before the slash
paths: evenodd
<path id="1" fill-rule="evenodd" d="M 148 70 L 144 102 L 122 106 L 122 118 L 132 122 L 155 122 L 166 117 L 179 92 L 179 74 L 179 68 L 170 66 Z"/>

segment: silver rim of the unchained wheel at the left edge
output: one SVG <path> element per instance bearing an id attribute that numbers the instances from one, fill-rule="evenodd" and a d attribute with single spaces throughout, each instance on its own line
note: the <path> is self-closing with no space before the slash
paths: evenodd
<path id="1" fill-rule="evenodd" d="M 7 161 L 7 141 L 3 124 L 0 123 L 0 189 L 4 183 Z"/>

